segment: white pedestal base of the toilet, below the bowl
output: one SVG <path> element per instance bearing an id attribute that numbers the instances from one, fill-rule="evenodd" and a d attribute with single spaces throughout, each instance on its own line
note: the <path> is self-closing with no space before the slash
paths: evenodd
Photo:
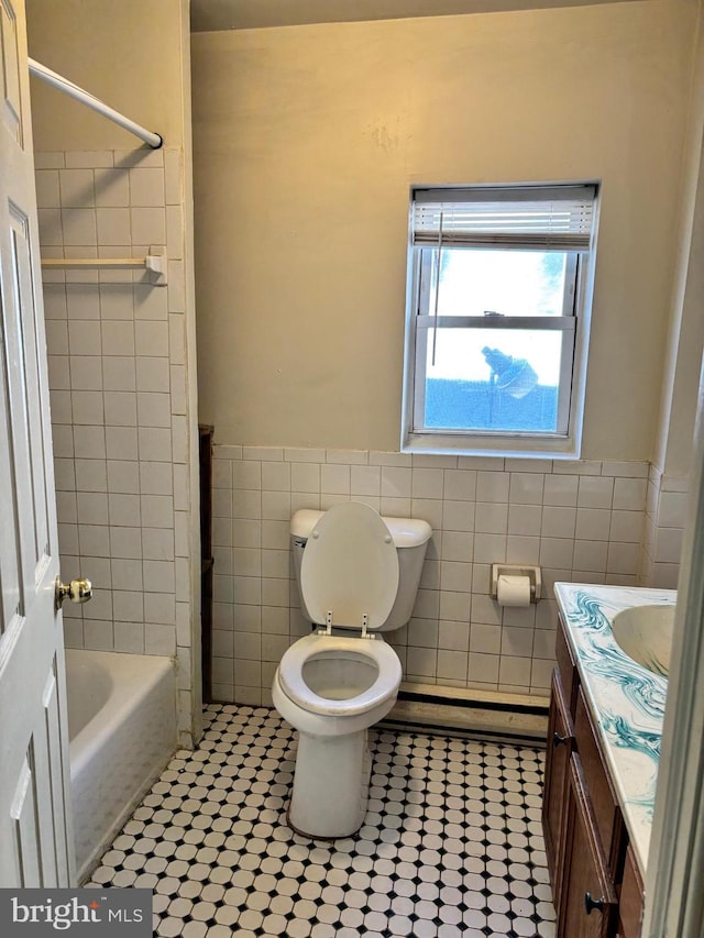
<path id="1" fill-rule="evenodd" d="M 345 736 L 299 732 L 290 826 L 312 839 L 355 834 L 366 815 L 372 757 L 367 731 Z"/>

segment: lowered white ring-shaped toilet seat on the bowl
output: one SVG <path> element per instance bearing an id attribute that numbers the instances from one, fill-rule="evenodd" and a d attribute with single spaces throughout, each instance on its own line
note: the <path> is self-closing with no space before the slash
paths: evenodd
<path id="1" fill-rule="evenodd" d="M 352 658 L 374 664 L 376 680 L 366 691 L 348 699 L 330 699 L 316 694 L 304 678 L 304 666 L 314 658 Z M 344 636 L 309 634 L 298 639 L 278 665 L 278 682 L 286 696 L 309 713 L 351 717 L 372 709 L 398 692 L 402 667 L 398 655 L 385 641 Z"/>

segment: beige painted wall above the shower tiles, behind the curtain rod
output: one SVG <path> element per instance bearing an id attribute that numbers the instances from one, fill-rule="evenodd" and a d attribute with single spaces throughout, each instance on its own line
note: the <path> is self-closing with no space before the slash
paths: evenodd
<path id="1" fill-rule="evenodd" d="M 190 108 L 183 93 L 187 13 L 182 0 L 26 0 L 30 56 L 179 146 Z M 36 151 L 140 145 L 37 78 L 31 95 Z"/>

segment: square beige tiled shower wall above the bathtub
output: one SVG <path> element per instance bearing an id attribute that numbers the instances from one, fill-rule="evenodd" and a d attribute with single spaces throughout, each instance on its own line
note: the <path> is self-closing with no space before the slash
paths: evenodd
<path id="1" fill-rule="evenodd" d="M 190 576 L 182 155 L 35 154 L 43 257 L 166 249 L 143 272 L 44 273 L 62 571 L 95 595 L 64 606 L 66 644 L 175 655 L 188 732 Z"/>

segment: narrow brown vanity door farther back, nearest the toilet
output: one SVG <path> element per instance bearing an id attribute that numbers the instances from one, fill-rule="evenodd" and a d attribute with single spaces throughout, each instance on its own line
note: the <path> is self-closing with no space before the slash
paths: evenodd
<path id="1" fill-rule="evenodd" d="M 552 898 L 559 908 L 561 872 L 564 857 L 566 819 L 568 769 L 572 751 L 573 728 L 560 681 L 560 672 L 552 672 L 552 695 L 548 720 L 546 751 L 546 781 L 542 797 L 542 830 L 546 856 L 552 884 Z"/>

